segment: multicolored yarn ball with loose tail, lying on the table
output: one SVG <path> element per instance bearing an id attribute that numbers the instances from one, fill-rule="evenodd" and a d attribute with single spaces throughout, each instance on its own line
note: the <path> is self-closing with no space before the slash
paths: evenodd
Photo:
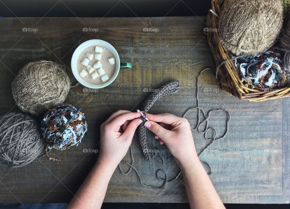
<path id="1" fill-rule="evenodd" d="M 65 150 L 77 146 L 87 132 L 87 122 L 82 109 L 62 104 L 50 109 L 41 121 L 41 132 L 48 149 Z M 47 154 L 48 157 L 50 157 Z M 60 161 L 59 159 L 50 159 Z"/>

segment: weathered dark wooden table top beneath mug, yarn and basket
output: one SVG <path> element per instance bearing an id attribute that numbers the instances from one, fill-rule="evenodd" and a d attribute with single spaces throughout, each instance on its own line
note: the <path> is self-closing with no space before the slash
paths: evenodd
<path id="1" fill-rule="evenodd" d="M 180 80 L 179 92 L 158 100 L 150 112 L 181 116 L 186 109 L 196 106 L 195 79 L 199 71 L 215 67 L 204 33 L 205 17 L 0 18 L 0 26 L 1 115 L 18 110 L 11 82 L 28 62 L 59 62 L 66 66 L 74 84 L 70 70 L 74 49 L 86 40 L 102 39 L 117 49 L 121 61 L 133 64 L 132 69 L 121 70 L 114 83 L 98 92 L 85 93 L 82 85 L 70 90 L 66 102 L 84 110 L 89 124 L 87 135 L 77 147 L 51 152 L 62 159 L 60 163 L 44 157 L 20 168 L 0 167 L 2 203 L 68 202 L 97 158 L 97 154 L 85 153 L 83 149 L 99 149 L 99 126 L 112 112 L 142 109 L 149 91 Z M 241 101 L 221 91 L 218 80 L 209 71 L 201 76 L 199 88 L 204 110 L 223 108 L 231 115 L 228 135 L 200 157 L 213 168 L 210 178 L 222 201 L 289 203 L 290 99 Z M 225 118 L 223 113 L 213 114 L 209 125 L 222 134 Z M 195 124 L 196 114 L 188 120 Z M 193 135 L 199 152 L 207 142 L 202 134 Z M 165 159 L 169 178 L 173 177 L 178 171 L 174 159 L 164 145 L 158 145 L 154 139 L 152 143 Z M 146 161 L 137 138 L 132 146 L 143 181 L 160 184 L 155 177 L 160 162 Z M 129 161 L 129 153 L 125 160 Z M 142 187 L 134 172 L 124 176 L 116 169 L 105 202 L 187 202 L 181 180 L 182 177 L 163 190 L 155 190 Z"/>

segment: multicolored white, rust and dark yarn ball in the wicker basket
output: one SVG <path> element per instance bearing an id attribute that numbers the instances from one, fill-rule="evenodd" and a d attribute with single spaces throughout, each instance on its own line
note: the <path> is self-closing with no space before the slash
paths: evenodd
<path id="1" fill-rule="evenodd" d="M 245 56 L 235 60 L 240 80 L 246 87 L 265 91 L 286 84 L 287 75 L 281 54 L 275 47 L 256 56 Z"/>

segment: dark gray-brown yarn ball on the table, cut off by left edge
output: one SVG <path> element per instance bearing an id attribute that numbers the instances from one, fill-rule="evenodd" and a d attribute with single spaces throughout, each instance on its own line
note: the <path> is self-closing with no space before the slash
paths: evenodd
<path id="1" fill-rule="evenodd" d="M 38 122 L 25 113 L 0 117 L 0 165 L 21 167 L 41 153 L 44 140 Z"/>

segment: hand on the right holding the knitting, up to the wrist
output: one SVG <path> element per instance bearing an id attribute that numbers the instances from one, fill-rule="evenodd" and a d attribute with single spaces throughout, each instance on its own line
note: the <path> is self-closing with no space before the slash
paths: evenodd
<path id="1" fill-rule="evenodd" d="M 150 121 L 145 122 L 145 127 L 152 131 L 167 146 L 178 164 L 197 158 L 190 124 L 185 118 L 164 113 L 152 115 L 146 113 Z M 158 124 L 159 122 L 160 124 Z"/>

